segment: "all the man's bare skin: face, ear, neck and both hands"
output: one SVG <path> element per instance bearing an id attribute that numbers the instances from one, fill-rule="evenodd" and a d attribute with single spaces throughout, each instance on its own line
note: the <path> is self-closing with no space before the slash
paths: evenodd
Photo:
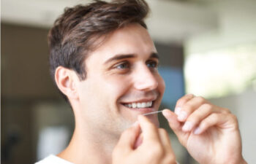
<path id="1" fill-rule="evenodd" d="M 75 71 L 56 69 L 56 84 L 75 114 L 72 140 L 59 157 L 77 164 L 176 163 L 167 132 L 157 128 L 156 114 L 140 115 L 157 111 L 165 90 L 156 53 L 148 31 L 130 24 L 90 53 L 85 80 L 80 81 Z M 154 105 L 141 110 L 124 106 L 138 101 L 154 101 Z M 176 113 L 163 114 L 199 163 L 245 163 L 238 122 L 227 109 L 185 95 L 177 102 Z"/>

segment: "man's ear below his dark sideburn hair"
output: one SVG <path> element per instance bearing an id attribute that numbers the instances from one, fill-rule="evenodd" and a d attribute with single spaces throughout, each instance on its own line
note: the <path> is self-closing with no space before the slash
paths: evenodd
<path id="1" fill-rule="evenodd" d="M 67 95 L 69 99 L 77 99 L 78 92 L 76 87 L 76 82 L 78 78 L 75 75 L 75 71 L 71 69 L 64 68 L 59 66 L 55 71 L 55 82 L 56 85 L 61 90 L 61 93 Z"/>

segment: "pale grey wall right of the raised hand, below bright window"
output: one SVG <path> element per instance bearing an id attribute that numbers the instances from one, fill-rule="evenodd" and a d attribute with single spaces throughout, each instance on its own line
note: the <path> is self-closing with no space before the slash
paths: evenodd
<path id="1" fill-rule="evenodd" d="M 247 163 L 256 163 L 256 90 L 247 90 L 240 95 L 209 100 L 218 106 L 227 107 L 238 117 L 243 155 Z"/>

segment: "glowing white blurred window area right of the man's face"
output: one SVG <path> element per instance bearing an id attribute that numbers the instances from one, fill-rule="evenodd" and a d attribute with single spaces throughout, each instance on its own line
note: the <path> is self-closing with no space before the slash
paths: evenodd
<path id="1" fill-rule="evenodd" d="M 206 98 L 241 93 L 256 77 L 256 44 L 187 55 L 186 93 Z"/>

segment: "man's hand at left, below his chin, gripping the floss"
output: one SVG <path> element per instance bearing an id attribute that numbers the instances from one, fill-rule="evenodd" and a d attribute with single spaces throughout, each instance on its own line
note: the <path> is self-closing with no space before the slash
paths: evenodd
<path id="1" fill-rule="evenodd" d="M 135 147 L 141 135 L 143 141 Z M 167 132 L 157 128 L 147 117 L 140 115 L 138 124 L 124 131 L 113 150 L 113 164 L 175 164 L 176 157 Z"/>

